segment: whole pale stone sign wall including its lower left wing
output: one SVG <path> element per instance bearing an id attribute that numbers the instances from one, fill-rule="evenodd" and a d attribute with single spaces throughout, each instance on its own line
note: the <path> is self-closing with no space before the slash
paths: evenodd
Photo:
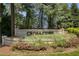
<path id="1" fill-rule="evenodd" d="M 53 30 L 53 29 L 15 29 L 15 35 L 18 37 L 7 37 L 2 36 L 2 45 L 11 45 L 13 43 L 18 42 L 19 40 L 23 40 L 23 37 L 27 36 L 28 32 L 37 33 L 37 34 L 47 34 L 48 32 L 60 33 L 64 34 L 64 29 Z"/>

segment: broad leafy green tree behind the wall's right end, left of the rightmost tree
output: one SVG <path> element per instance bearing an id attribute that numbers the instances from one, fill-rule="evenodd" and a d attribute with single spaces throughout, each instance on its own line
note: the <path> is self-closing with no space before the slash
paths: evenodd
<path id="1" fill-rule="evenodd" d="M 57 13 L 55 18 L 57 19 L 58 28 L 67 28 L 72 25 L 72 23 L 68 22 L 71 20 L 71 13 L 67 4 L 57 4 Z"/>

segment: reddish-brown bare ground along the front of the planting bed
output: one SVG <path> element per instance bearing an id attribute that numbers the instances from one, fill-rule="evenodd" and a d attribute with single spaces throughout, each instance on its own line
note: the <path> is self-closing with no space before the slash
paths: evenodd
<path id="1" fill-rule="evenodd" d="M 66 48 L 65 49 L 65 53 L 67 52 L 73 52 L 75 50 L 75 48 Z M 3 46 L 3 47 L 0 47 L 0 54 L 1 55 L 45 55 L 45 54 L 48 54 L 48 53 L 56 53 L 54 49 L 52 48 L 48 48 L 46 51 L 12 51 L 11 50 L 11 46 Z"/>

